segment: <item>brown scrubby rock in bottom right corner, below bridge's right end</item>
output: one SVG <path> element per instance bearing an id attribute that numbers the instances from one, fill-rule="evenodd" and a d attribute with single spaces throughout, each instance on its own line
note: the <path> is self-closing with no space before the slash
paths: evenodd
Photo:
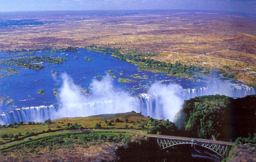
<path id="1" fill-rule="evenodd" d="M 228 161 L 230 162 L 254 162 L 256 161 L 256 151 L 253 151 L 253 147 L 250 145 L 237 145 L 231 152 L 231 156 Z"/>

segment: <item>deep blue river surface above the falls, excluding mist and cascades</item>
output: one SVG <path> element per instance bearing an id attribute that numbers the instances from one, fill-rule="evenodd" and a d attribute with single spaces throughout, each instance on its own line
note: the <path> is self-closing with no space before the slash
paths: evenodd
<path id="1" fill-rule="evenodd" d="M 172 77 L 165 73 L 140 71 L 137 70 L 137 66 L 112 57 L 111 53 L 104 55 L 103 53 L 88 51 L 88 49 L 85 48 L 80 48 L 79 52 L 51 53 L 45 50 L 36 51 L 35 55 L 25 56 L 20 56 L 19 53 L 21 52 L 0 52 L 0 59 L 54 54 L 56 56 L 52 57 L 66 57 L 68 60 L 63 61 L 62 64 L 48 65 L 48 62 L 42 63 L 45 68 L 38 71 L 12 66 L 14 69 L 20 71 L 18 74 L 12 74 L 12 76 L 7 76 L 6 73 L 0 72 L 6 75 L 5 78 L 0 78 L 0 97 L 9 96 L 9 99 L 14 100 L 13 103 L 8 105 L 5 105 L 4 102 L 0 107 L 0 113 L 21 107 L 55 104 L 57 99 L 53 95 L 53 89 L 56 88 L 58 92 L 58 89 L 62 86 L 61 74 L 64 72 L 73 78 L 75 84 L 81 85 L 81 87 L 88 90 L 93 79 L 100 80 L 109 73 L 109 70 L 112 70 L 115 77 L 110 76 L 113 78 L 114 86 L 122 88 L 131 95 L 145 93 L 146 89 L 144 87 L 150 86 L 150 84 L 156 81 L 166 84 L 175 82 L 180 84 L 183 88 L 193 88 L 198 85 L 197 82 L 193 82 L 187 78 Z M 78 56 L 78 58 L 74 58 L 74 56 Z M 89 57 L 93 60 L 87 61 L 84 60 L 84 57 Z M 0 66 L 11 67 L 5 64 L 0 64 Z M 54 70 L 53 73 L 52 70 Z M 58 76 L 54 76 L 55 72 L 58 73 Z M 120 75 L 120 73 L 122 74 Z M 134 74 L 138 74 L 142 78 L 144 75 L 147 75 L 148 78 L 134 78 L 131 76 Z M 118 82 L 118 78 L 128 78 L 136 82 L 120 83 Z M 36 93 L 39 89 L 43 89 L 45 94 Z"/>

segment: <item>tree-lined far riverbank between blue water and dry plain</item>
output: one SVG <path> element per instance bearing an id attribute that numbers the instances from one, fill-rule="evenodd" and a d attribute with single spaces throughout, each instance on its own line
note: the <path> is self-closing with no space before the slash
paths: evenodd
<path id="1" fill-rule="evenodd" d="M 212 77 L 222 77 L 229 80 L 241 81 L 248 86 L 256 87 L 255 82 L 248 82 L 244 79 L 239 78 L 239 73 L 231 70 L 229 66 L 223 66 L 220 69 L 216 67 L 209 66 L 198 66 L 197 64 L 188 63 L 184 64 L 182 61 L 174 60 L 161 60 L 159 61 L 158 56 L 160 53 L 143 53 L 138 50 L 125 50 L 123 48 L 112 48 L 112 47 L 98 47 L 98 46 L 88 46 L 87 48 L 104 53 L 108 51 L 112 54 L 113 57 L 116 57 L 120 60 L 125 60 L 129 63 L 132 63 L 138 67 L 138 70 L 147 70 L 154 73 L 166 73 L 170 76 L 189 78 L 191 80 L 197 78 L 212 78 Z"/>

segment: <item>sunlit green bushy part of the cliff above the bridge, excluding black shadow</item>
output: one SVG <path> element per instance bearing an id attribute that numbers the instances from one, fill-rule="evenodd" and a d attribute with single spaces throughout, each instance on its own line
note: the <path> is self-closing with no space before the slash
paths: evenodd
<path id="1" fill-rule="evenodd" d="M 199 96 L 185 101 L 185 131 L 191 137 L 203 139 L 223 139 L 230 137 L 229 121 L 231 98 L 211 95 Z M 227 140 L 227 139 L 226 139 Z"/>

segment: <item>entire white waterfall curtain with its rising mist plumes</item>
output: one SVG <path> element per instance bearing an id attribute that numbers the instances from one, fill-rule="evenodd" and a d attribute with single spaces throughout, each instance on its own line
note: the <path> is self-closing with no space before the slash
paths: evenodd
<path id="1" fill-rule="evenodd" d="M 175 120 L 185 99 L 203 95 L 226 95 L 244 97 L 255 94 L 254 88 L 242 84 L 231 84 L 215 80 L 206 87 L 183 89 L 179 84 L 152 84 L 147 93 L 131 96 L 122 89 L 117 89 L 109 76 L 101 81 L 93 80 L 91 93 L 85 95 L 67 74 L 62 75 L 63 85 L 56 105 L 37 106 L 16 109 L 0 115 L 1 124 L 14 121 L 44 121 L 48 118 L 81 117 L 99 114 L 141 112 L 144 116 L 157 119 Z"/>

